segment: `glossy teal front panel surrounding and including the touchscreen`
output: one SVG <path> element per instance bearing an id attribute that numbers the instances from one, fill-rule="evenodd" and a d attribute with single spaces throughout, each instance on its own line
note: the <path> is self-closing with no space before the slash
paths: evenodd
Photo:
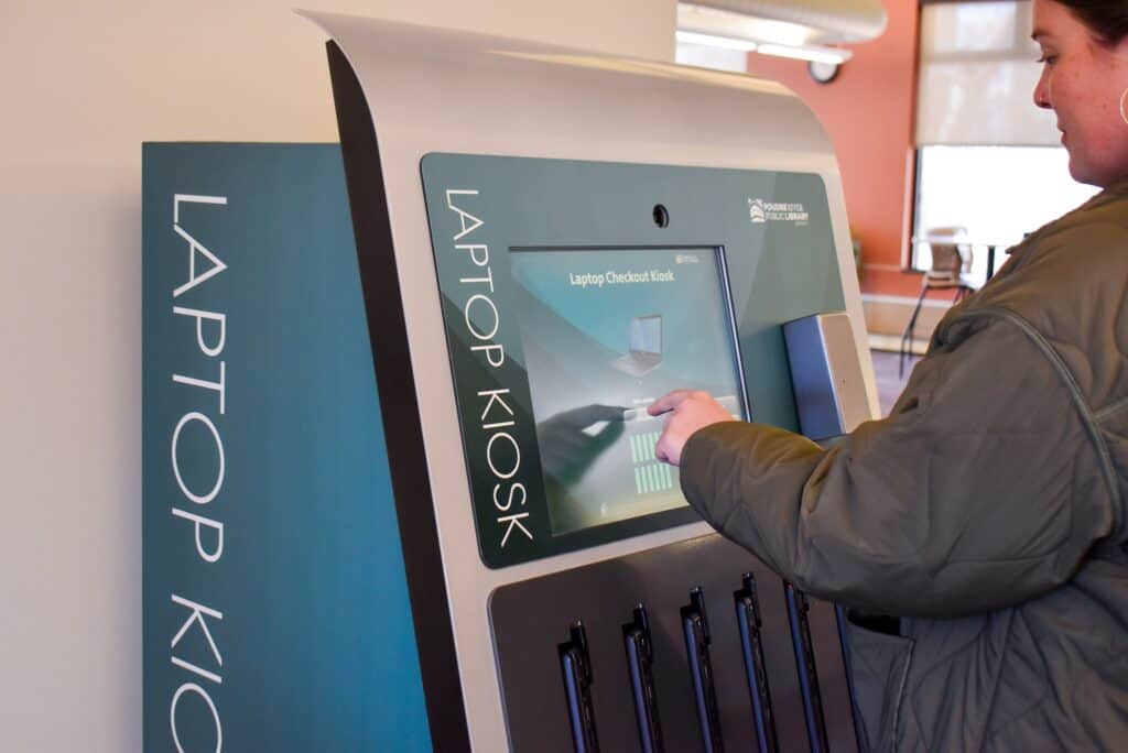
<path id="1" fill-rule="evenodd" d="M 797 429 L 782 325 L 845 308 L 800 172 L 432 153 L 423 184 L 488 567 L 696 520 L 645 406 Z"/>

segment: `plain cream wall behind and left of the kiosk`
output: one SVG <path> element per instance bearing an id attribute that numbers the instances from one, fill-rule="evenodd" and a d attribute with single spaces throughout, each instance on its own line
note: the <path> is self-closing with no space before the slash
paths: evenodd
<path id="1" fill-rule="evenodd" d="M 673 54 L 675 0 L 3 0 L 0 751 L 141 748 L 141 142 L 336 141 L 293 5 Z"/>

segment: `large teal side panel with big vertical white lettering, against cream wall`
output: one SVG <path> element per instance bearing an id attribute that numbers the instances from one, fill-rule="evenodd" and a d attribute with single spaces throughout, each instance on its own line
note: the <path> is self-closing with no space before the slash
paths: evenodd
<path id="1" fill-rule="evenodd" d="M 143 151 L 150 751 L 429 751 L 340 149 Z"/>

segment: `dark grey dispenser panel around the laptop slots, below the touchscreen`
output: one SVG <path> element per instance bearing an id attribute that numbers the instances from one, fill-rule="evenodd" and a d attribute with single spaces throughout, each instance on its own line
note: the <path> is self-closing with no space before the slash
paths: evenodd
<path id="1" fill-rule="evenodd" d="M 569 699 L 558 647 L 582 620 L 600 750 L 638 751 L 638 723 L 623 645 L 633 605 L 646 605 L 652 673 L 666 751 L 703 750 L 688 671 L 681 608 L 700 587 L 708 610 L 720 737 L 728 751 L 760 750 L 743 661 L 735 591 L 742 574 L 759 585 L 761 640 L 779 751 L 810 750 L 804 699 L 781 579 L 740 547 L 708 534 L 644 552 L 503 586 L 490 601 L 513 751 L 571 753 Z M 855 751 L 835 608 L 809 599 L 811 646 L 830 751 Z"/>

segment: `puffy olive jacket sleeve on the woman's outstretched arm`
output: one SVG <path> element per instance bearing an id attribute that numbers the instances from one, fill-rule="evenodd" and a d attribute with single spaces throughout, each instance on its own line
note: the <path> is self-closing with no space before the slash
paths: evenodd
<path id="1" fill-rule="evenodd" d="M 759 424 L 695 433 L 687 498 L 781 577 L 867 612 L 960 617 L 1060 585 L 1113 525 L 1084 408 L 1015 322 L 966 328 L 830 450 Z"/>

